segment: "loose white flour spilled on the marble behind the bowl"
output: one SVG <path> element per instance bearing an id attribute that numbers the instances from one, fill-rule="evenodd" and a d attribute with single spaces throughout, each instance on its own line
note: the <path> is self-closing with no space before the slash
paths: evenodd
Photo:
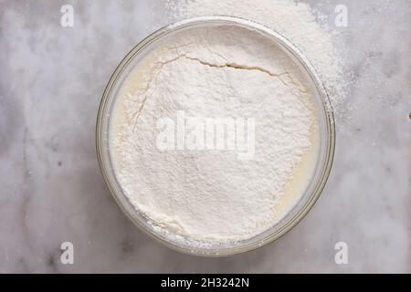
<path id="1" fill-rule="evenodd" d="M 332 107 L 345 98 L 349 78 L 343 78 L 343 52 L 338 32 L 327 25 L 327 16 L 294 0 L 163 0 L 171 21 L 195 16 L 236 16 L 253 20 L 287 37 L 316 68 Z M 333 27 L 335 28 L 335 27 Z M 342 110 L 336 111 L 337 119 Z"/>

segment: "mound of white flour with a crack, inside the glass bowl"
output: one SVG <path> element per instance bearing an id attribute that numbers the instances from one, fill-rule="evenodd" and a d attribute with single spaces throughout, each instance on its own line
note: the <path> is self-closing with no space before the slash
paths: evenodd
<path id="1" fill-rule="evenodd" d="M 121 89 L 111 126 L 118 180 L 162 232 L 219 243 L 258 235 L 290 210 L 311 176 L 318 141 L 311 99 L 300 69 L 265 36 L 236 26 L 184 31 Z M 159 119 L 176 120 L 178 112 L 254 119 L 252 159 L 232 150 L 159 149 Z M 186 131 L 188 139 L 193 129 Z M 290 188 L 300 169 L 306 180 Z"/>

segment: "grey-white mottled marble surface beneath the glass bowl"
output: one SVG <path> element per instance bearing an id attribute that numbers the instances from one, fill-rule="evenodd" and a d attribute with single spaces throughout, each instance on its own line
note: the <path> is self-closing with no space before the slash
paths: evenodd
<path id="1" fill-rule="evenodd" d="M 0 272 L 411 272 L 411 5 L 316 6 L 331 14 L 340 2 L 357 82 L 319 202 L 273 244 L 201 258 L 138 231 L 111 198 L 95 153 L 102 91 L 133 45 L 169 21 L 161 3 L 1 0 Z M 60 26 L 63 4 L 75 8 L 73 27 Z M 60 263 L 66 241 L 74 265 Z M 334 262 L 339 241 L 348 265 Z"/>

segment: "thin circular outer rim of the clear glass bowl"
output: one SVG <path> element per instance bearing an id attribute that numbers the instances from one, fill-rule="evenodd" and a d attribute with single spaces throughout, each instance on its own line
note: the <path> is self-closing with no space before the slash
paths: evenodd
<path id="1" fill-rule="evenodd" d="M 327 130 L 327 135 L 325 137 L 326 138 L 326 141 L 325 141 L 326 142 L 326 152 L 324 153 L 325 160 L 321 165 L 322 169 L 321 169 L 320 180 L 316 183 L 316 187 L 312 191 L 307 202 L 304 203 L 302 207 L 300 207 L 298 212 L 294 214 L 290 218 L 290 220 L 287 221 L 286 224 L 283 224 L 283 226 L 281 226 L 279 230 L 277 230 L 273 234 L 268 235 L 262 241 L 255 242 L 253 244 L 249 244 L 245 246 L 226 248 L 224 250 L 219 250 L 219 249 L 218 250 L 205 250 L 204 248 L 199 248 L 196 246 L 187 248 L 185 246 L 178 245 L 177 243 L 172 242 L 171 240 L 168 241 L 164 239 L 162 236 L 154 233 L 153 230 L 149 229 L 145 224 L 142 224 L 140 220 L 137 220 L 132 214 L 130 214 L 130 211 L 127 210 L 126 207 L 124 206 L 124 203 L 121 202 L 119 195 L 117 194 L 114 186 L 111 183 L 111 179 L 109 176 L 113 174 L 110 173 L 110 170 L 108 169 L 107 165 L 104 163 L 106 151 L 105 149 L 103 149 L 103 143 L 102 143 L 102 139 L 104 139 L 103 119 L 106 114 L 105 110 L 106 110 L 107 102 L 109 98 L 111 97 L 111 90 L 113 89 L 113 86 L 116 84 L 116 80 L 121 75 L 123 69 L 127 68 L 127 65 L 132 61 L 132 58 L 135 57 L 144 47 L 148 46 L 150 43 L 152 43 L 154 40 L 157 40 L 159 37 L 163 36 L 164 34 L 173 32 L 174 30 L 177 30 L 182 27 L 194 26 L 194 25 L 203 24 L 206 22 L 227 23 L 231 25 L 248 26 L 250 28 L 258 29 L 259 31 L 267 33 L 270 36 L 273 36 L 279 42 L 279 45 L 281 47 L 287 48 L 289 53 L 300 61 L 300 65 L 302 65 L 302 67 L 305 68 L 311 80 L 313 81 L 313 84 L 318 90 L 319 96 L 321 97 L 321 102 L 322 102 L 322 106 L 324 109 L 324 113 L 325 113 L 324 114 L 324 117 L 326 118 L 325 126 Z M 312 206 L 319 199 L 321 192 L 325 186 L 325 183 L 328 180 L 328 177 L 332 170 L 332 162 L 333 162 L 333 156 L 335 152 L 336 133 L 335 133 L 334 116 L 332 112 L 332 104 L 330 102 L 327 90 L 324 88 L 321 82 L 321 78 L 319 78 L 319 75 L 316 69 L 311 65 L 311 62 L 307 59 L 307 57 L 305 57 L 300 52 L 298 47 L 295 47 L 286 37 L 280 35 L 275 30 L 267 26 L 258 24 L 257 22 L 252 21 L 252 20 L 248 20 L 248 19 L 240 18 L 240 17 L 234 17 L 234 16 L 201 16 L 201 17 L 188 18 L 182 21 L 172 23 L 167 26 L 163 26 L 162 28 L 154 31 L 149 36 L 144 37 L 142 41 L 140 41 L 136 46 L 132 47 L 129 53 L 127 53 L 127 55 L 122 58 L 119 65 L 115 68 L 114 72 L 111 74 L 111 78 L 109 79 L 103 91 L 102 98 L 100 99 L 100 106 L 99 106 L 97 122 L 96 122 L 95 139 L 96 139 L 95 141 L 96 141 L 97 159 L 99 162 L 100 172 L 104 179 L 104 182 L 106 183 L 111 193 L 111 196 L 114 198 L 115 202 L 120 206 L 122 212 L 126 214 L 126 216 L 132 221 L 134 225 L 136 225 L 144 234 L 152 237 L 155 241 L 171 249 L 174 249 L 175 251 L 182 252 L 187 255 L 220 257 L 220 256 L 237 255 L 241 253 L 246 253 L 248 251 L 257 249 L 258 247 L 268 245 L 269 243 L 279 239 L 279 237 L 290 232 L 292 228 L 294 228 L 297 224 L 300 223 L 300 221 L 306 216 L 306 214 L 309 213 Z M 293 206 L 290 209 L 289 214 L 291 213 L 292 209 L 294 209 L 295 207 L 296 206 Z M 137 214 L 137 212 L 135 212 L 135 214 Z"/>

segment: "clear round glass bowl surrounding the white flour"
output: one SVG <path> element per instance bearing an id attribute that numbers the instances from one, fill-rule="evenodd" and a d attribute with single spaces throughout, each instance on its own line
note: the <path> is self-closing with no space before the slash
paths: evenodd
<path id="1" fill-rule="evenodd" d="M 175 241 L 170 236 L 164 235 L 155 231 L 152 225 L 148 224 L 148 218 L 144 214 L 139 213 L 134 208 L 129 199 L 121 190 L 121 185 L 116 179 L 113 171 L 113 164 L 111 161 L 109 128 L 111 119 L 111 110 L 113 108 L 115 99 L 121 84 L 127 78 L 132 68 L 138 64 L 142 58 L 150 52 L 150 50 L 157 44 L 162 43 L 166 36 L 173 36 L 184 29 L 204 26 L 241 26 L 258 31 L 263 36 L 272 39 L 273 42 L 283 49 L 290 57 L 292 57 L 296 64 L 300 66 L 302 72 L 305 72 L 308 80 L 311 82 L 311 87 L 314 92 L 314 99 L 317 107 L 318 119 L 320 124 L 320 145 L 319 157 L 316 162 L 315 170 L 311 177 L 310 183 L 305 189 L 305 192 L 300 196 L 300 200 L 294 204 L 288 214 L 286 214 L 277 224 L 272 225 L 265 232 L 242 240 L 233 245 L 210 245 L 205 247 L 198 247 L 190 245 L 189 243 Z M 100 164 L 100 171 L 107 183 L 112 196 L 119 204 L 122 211 L 136 224 L 144 233 L 152 236 L 154 239 L 174 250 L 191 254 L 203 256 L 224 256 L 244 253 L 262 245 L 267 245 L 270 242 L 278 239 L 281 235 L 290 231 L 300 220 L 310 211 L 312 205 L 319 198 L 321 191 L 327 181 L 329 173 L 332 168 L 332 158 L 335 147 L 335 129 L 333 122 L 333 115 L 331 105 L 324 89 L 321 79 L 318 77 L 315 69 L 311 63 L 300 53 L 297 47 L 294 47 L 290 41 L 284 36 L 280 36 L 275 31 L 266 26 L 261 26 L 255 22 L 229 16 L 205 16 L 187 19 L 169 26 L 165 26 L 152 35 L 147 36 L 132 51 L 124 57 L 120 65 L 112 74 L 106 89 L 104 90 L 100 109 L 97 118 L 96 130 L 97 154 Z"/>

